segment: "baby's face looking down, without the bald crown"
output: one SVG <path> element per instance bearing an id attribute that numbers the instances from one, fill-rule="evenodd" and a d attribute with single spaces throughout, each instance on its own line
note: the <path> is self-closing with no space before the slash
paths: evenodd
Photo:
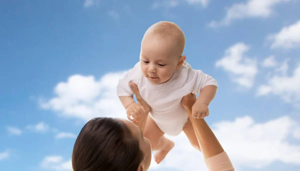
<path id="1" fill-rule="evenodd" d="M 141 43 L 140 66 L 152 84 L 168 81 L 178 68 L 180 55 L 172 50 L 174 43 L 159 36 L 144 37 Z"/>

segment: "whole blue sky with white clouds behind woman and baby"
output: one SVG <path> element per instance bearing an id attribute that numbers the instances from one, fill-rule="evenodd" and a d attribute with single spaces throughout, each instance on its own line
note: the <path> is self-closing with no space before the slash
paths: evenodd
<path id="1" fill-rule="evenodd" d="M 300 170 L 298 0 L 1 0 L 0 168 L 69 171 L 92 117 L 125 118 L 115 86 L 151 24 L 185 33 L 219 85 L 206 121 L 238 171 Z M 184 135 L 150 171 L 205 171 Z M 190 166 L 186 163 L 190 162 Z"/>

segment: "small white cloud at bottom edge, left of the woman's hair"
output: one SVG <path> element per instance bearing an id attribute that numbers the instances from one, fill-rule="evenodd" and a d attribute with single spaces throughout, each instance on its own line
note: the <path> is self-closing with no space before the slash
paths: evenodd
<path id="1" fill-rule="evenodd" d="M 71 160 L 63 161 L 61 156 L 46 156 L 40 163 L 40 167 L 44 170 L 52 171 L 72 171 Z"/>

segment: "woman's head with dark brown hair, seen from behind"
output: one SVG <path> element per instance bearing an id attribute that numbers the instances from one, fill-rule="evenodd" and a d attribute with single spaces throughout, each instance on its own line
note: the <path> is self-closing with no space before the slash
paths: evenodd
<path id="1" fill-rule="evenodd" d="M 149 141 L 129 121 L 94 118 L 81 129 L 73 148 L 74 171 L 146 171 Z"/>

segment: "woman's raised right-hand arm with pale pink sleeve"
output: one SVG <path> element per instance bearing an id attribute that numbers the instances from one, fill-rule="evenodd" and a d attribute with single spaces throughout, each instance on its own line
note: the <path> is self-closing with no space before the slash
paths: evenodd
<path id="1" fill-rule="evenodd" d="M 192 117 L 191 107 L 195 101 L 196 96 L 188 94 L 182 98 L 181 105 L 191 121 L 208 170 L 234 171 L 227 154 L 204 119 L 194 119 Z"/>

